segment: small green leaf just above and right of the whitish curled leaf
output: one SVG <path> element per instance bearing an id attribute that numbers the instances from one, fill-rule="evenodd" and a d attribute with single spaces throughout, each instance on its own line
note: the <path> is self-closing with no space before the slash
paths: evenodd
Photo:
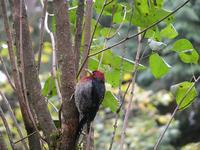
<path id="1" fill-rule="evenodd" d="M 160 34 L 162 37 L 173 39 L 178 35 L 178 32 L 172 24 L 169 24 L 166 28 L 161 30 Z"/>

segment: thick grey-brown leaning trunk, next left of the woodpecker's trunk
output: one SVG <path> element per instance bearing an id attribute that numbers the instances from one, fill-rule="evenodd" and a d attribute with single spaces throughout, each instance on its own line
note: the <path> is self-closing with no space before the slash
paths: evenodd
<path id="1" fill-rule="evenodd" d="M 36 113 L 39 125 L 46 137 L 48 144 L 52 145 L 52 142 L 54 142 L 52 141 L 52 139 L 54 139 L 54 136 L 57 134 L 57 130 L 48 111 L 47 104 L 45 102 L 45 97 L 43 97 L 41 94 L 41 85 L 34 61 L 34 53 L 32 49 L 32 42 L 30 37 L 25 3 L 24 0 L 21 0 L 21 2 L 22 16 L 20 18 L 20 3 L 19 1 L 14 1 L 14 27 L 16 32 L 17 51 L 20 51 L 20 44 L 22 48 L 23 62 L 20 63 L 22 63 L 24 67 L 22 73 L 24 74 L 26 88 L 23 90 L 25 90 L 24 92 L 28 98 L 30 107 L 33 108 L 34 112 Z M 19 32 L 20 19 L 22 23 L 22 33 Z M 22 41 L 20 41 L 20 34 L 22 36 Z M 19 41 L 21 43 L 18 43 Z"/>

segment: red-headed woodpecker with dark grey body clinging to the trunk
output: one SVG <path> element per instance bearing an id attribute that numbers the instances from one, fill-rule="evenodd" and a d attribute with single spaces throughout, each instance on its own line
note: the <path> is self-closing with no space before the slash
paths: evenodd
<path id="1" fill-rule="evenodd" d="M 79 125 L 76 133 L 78 140 L 84 125 L 87 133 L 105 95 L 105 79 L 101 71 L 95 70 L 89 76 L 80 79 L 75 89 L 75 104 L 79 112 Z"/>

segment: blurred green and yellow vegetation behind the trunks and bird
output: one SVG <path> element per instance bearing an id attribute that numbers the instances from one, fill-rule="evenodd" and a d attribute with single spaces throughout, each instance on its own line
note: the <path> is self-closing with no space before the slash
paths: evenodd
<path id="1" fill-rule="evenodd" d="M 75 39 L 77 29 L 78 2 L 73 0 L 68 2 L 72 40 Z M 112 149 L 120 149 L 123 131 L 125 132 L 124 149 L 153 149 L 170 119 L 173 120 L 159 149 L 200 149 L 200 134 L 198 134 L 200 133 L 200 82 L 198 81 L 200 75 L 200 1 L 188 2 L 180 7 L 180 10 L 169 15 L 183 3 L 184 1 L 173 0 L 96 0 L 93 2 L 91 26 L 95 33 L 90 47 L 88 68 L 104 71 L 107 89 L 103 105 L 93 123 L 95 149 L 111 149 L 112 144 Z M 37 62 L 43 7 L 41 1 L 36 0 L 27 0 L 26 5 L 34 56 Z M 10 9 L 12 1 L 7 3 L 7 8 L 7 15 L 12 20 L 13 11 Z M 46 25 L 55 35 L 56 17 L 52 15 L 54 9 L 53 2 L 48 1 L 49 15 Z M 169 16 L 166 17 L 167 15 Z M 148 29 L 164 17 L 166 17 L 165 20 Z M 95 29 L 97 21 L 99 23 Z M 85 22 L 84 25 L 86 25 Z M 143 30 L 144 32 L 139 36 L 130 38 Z M 22 133 L 26 136 L 16 94 L 6 77 L 5 68 L 9 74 L 12 71 L 2 17 L 0 18 L 0 33 L 2 60 L 0 92 L 8 99 Z M 86 34 L 83 34 L 82 39 L 85 40 L 85 36 Z M 84 40 L 80 48 L 80 64 L 84 60 L 82 56 Z M 100 52 L 102 50 L 105 51 Z M 42 95 L 48 99 L 48 109 L 53 120 L 56 121 L 61 103 L 56 81 L 52 75 L 52 52 L 52 41 L 46 29 L 39 78 Z M 138 53 L 139 59 L 136 59 Z M 56 76 L 60 77 L 59 69 Z M 129 85 L 134 88 L 127 88 Z M 20 136 L 10 117 L 7 105 L 2 99 L 3 97 L 0 106 L 5 113 L 14 141 L 18 141 Z M 172 116 L 176 109 L 175 116 Z M 125 125 L 127 112 L 129 112 L 129 117 Z M 116 120 L 117 126 L 114 126 Z M 6 143 L 10 145 L 2 120 L 0 120 L 0 135 L 1 133 Z M 115 136 L 112 141 L 113 134 Z M 18 149 L 23 147 L 21 142 L 15 145 Z"/>

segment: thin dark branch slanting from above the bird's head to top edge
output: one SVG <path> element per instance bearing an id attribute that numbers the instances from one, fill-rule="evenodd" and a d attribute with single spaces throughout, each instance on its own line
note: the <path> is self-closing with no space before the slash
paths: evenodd
<path id="1" fill-rule="evenodd" d="M 78 73 L 77 73 L 77 75 L 76 75 L 76 78 L 78 78 L 78 76 L 80 75 L 81 71 L 83 70 L 83 67 L 84 67 L 85 64 L 87 63 L 88 56 L 89 56 L 89 54 L 90 54 L 90 47 L 91 47 L 91 45 L 92 45 L 92 40 L 93 40 L 93 38 L 94 38 L 94 34 L 95 34 L 95 32 L 96 32 L 96 29 L 97 29 L 99 20 L 100 20 L 102 14 L 103 14 L 103 11 L 104 11 L 105 7 L 108 5 L 107 1 L 108 1 L 108 0 L 105 0 L 105 1 L 104 1 L 104 5 L 103 5 L 103 7 L 102 7 L 102 9 L 101 9 L 101 12 L 100 12 L 100 14 L 99 14 L 99 17 L 98 17 L 98 19 L 97 19 L 97 21 L 96 21 L 96 24 L 95 24 L 95 26 L 94 26 L 94 31 L 93 31 L 92 36 L 91 36 L 91 38 L 90 38 L 90 42 L 89 42 L 88 49 L 87 49 L 87 52 L 88 52 L 88 53 L 87 53 L 87 57 L 85 57 L 85 59 L 83 60 L 83 63 L 82 63 L 82 65 L 81 65 L 81 67 L 80 67 L 80 69 L 79 69 L 79 71 L 78 71 Z M 111 2 L 112 2 L 112 1 L 111 1 Z M 110 4 L 110 3 L 109 3 L 109 4 Z"/>

